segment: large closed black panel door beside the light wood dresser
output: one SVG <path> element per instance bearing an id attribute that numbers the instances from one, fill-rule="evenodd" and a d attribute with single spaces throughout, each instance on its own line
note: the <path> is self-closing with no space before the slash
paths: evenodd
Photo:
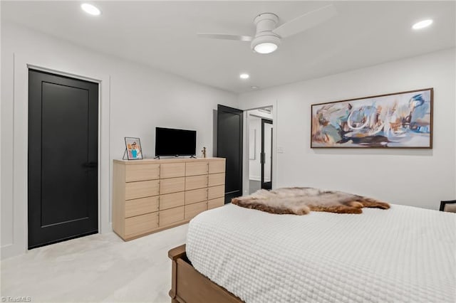
<path id="1" fill-rule="evenodd" d="M 98 233 L 98 84 L 28 71 L 28 248 Z"/>

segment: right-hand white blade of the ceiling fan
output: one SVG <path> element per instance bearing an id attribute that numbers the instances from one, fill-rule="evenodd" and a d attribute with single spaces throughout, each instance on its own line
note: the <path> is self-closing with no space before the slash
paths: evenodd
<path id="1" fill-rule="evenodd" d="M 313 28 L 314 26 L 329 20 L 333 16 L 336 16 L 336 14 L 336 8 L 333 4 L 330 4 L 294 18 L 274 29 L 273 32 L 282 38 L 293 36 L 296 35 L 296 33 L 301 33 L 301 31 L 306 31 L 309 28 Z"/>

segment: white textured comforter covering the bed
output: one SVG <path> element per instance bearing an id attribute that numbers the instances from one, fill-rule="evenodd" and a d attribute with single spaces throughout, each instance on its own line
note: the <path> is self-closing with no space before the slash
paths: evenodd
<path id="1" fill-rule="evenodd" d="M 363 214 L 199 214 L 187 257 L 244 302 L 456 302 L 456 215 L 391 205 Z"/>

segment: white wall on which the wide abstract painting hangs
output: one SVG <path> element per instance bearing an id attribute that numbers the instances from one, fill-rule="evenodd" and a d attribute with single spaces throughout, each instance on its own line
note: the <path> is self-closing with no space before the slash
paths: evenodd
<path id="1" fill-rule="evenodd" d="M 311 60 L 311 58 L 303 58 Z M 359 193 L 438 209 L 456 198 L 455 49 L 239 96 L 242 109 L 274 104 L 276 183 Z M 313 103 L 434 87 L 433 149 L 311 149 Z"/>

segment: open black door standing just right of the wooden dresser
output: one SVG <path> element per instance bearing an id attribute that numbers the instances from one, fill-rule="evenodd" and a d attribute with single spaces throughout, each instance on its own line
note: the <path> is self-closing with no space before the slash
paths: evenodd
<path id="1" fill-rule="evenodd" d="M 218 105 L 217 156 L 227 159 L 225 203 L 242 196 L 242 110 Z"/>

